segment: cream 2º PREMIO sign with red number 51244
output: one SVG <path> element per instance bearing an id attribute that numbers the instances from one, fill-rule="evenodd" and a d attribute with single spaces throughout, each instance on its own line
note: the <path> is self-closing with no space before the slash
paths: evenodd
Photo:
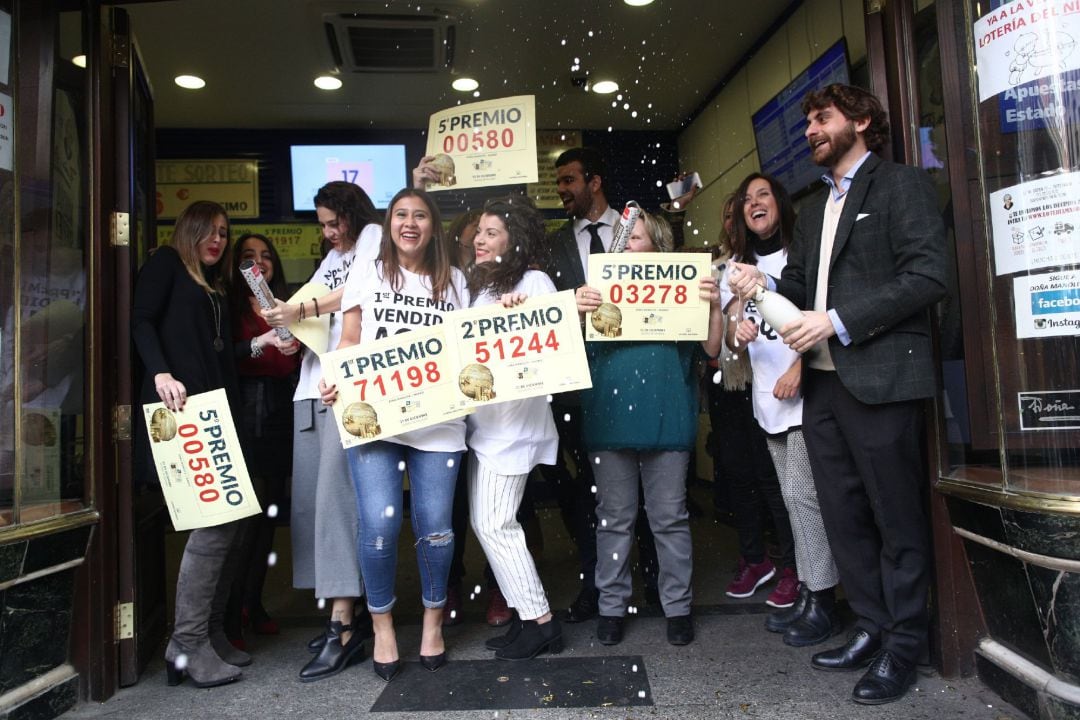
<path id="1" fill-rule="evenodd" d="M 592 388 L 572 290 L 453 312 L 446 331 L 471 406 Z"/>

